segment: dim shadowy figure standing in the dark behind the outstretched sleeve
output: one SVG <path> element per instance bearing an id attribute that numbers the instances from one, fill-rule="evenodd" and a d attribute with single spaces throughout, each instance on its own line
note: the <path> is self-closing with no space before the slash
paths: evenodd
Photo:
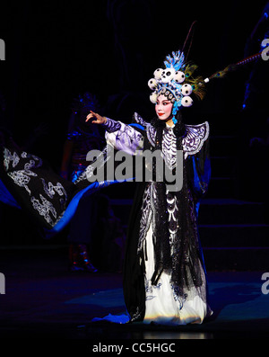
<path id="1" fill-rule="evenodd" d="M 97 126 L 85 123 L 87 114 L 98 110 L 100 105 L 94 94 L 86 92 L 74 99 L 61 165 L 61 175 L 66 180 L 74 182 L 86 166 L 91 164 L 86 161 L 88 152 L 100 150 L 104 144 Z M 91 263 L 89 252 L 97 219 L 98 194 L 82 198 L 71 220 L 67 237 L 71 271 L 97 272 Z"/>

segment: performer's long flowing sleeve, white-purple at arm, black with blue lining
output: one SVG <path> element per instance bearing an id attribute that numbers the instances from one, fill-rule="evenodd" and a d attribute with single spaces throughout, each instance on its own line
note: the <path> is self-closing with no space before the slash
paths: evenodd
<path id="1" fill-rule="evenodd" d="M 143 148 L 143 134 L 131 125 L 108 119 L 106 129 L 110 148 L 124 150 L 132 156 Z M 100 156 L 103 160 L 99 169 L 114 160 L 108 147 Z M 56 174 L 40 157 L 22 151 L 5 137 L 0 147 L 0 164 L 0 201 L 26 210 L 40 227 L 46 229 L 49 237 L 72 219 L 84 195 L 118 182 L 114 176 L 112 180 L 104 176 L 103 181 L 91 181 L 91 174 L 94 173 L 94 163 L 91 163 L 71 183 Z"/>

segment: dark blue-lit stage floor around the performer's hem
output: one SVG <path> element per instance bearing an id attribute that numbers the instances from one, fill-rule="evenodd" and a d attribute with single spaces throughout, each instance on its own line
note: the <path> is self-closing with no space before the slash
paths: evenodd
<path id="1" fill-rule="evenodd" d="M 213 317 L 202 325 L 168 327 L 91 322 L 94 317 L 125 313 L 122 276 L 113 272 L 69 272 L 67 265 L 65 245 L 0 247 L 0 272 L 5 278 L 5 293 L 0 294 L 1 339 L 269 336 L 269 294 L 265 294 L 269 284 L 263 291 L 264 272 L 208 272 Z"/>

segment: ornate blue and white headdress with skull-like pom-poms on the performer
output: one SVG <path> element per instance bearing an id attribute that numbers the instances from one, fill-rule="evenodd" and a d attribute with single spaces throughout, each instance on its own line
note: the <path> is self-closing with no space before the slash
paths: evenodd
<path id="1" fill-rule="evenodd" d="M 150 100 L 157 102 L 160 94 L 164 94 L 173 103 L 173 121 L 176 124 L 175 115 L 180 107 L 190 107 L 193 104 L 191 94 L 196 94 L 200 99 L 204 98 L 204 79 L 202 76 L 194 77 L 197 66 L 192 62 L 185 62 L 183 52 L 172 52 L 164 61 L 165 68 L 154 71 L 154 77 L 148 85 L 152 89 Z"/>

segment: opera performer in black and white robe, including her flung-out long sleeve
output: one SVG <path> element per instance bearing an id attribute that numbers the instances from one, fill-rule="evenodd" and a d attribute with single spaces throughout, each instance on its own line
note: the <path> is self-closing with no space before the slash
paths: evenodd
<path id="1" fill-rule="evenodd" d="M 202 323 L 212 313 L 207 302 L 206 272 L 197 230 L 199 200 L 210 179 L 209 125 L 186 125 L 182 107 L 191 94 L 204 97 L 204 81 L 194 77 L 196 66 L 183 52 L 173 52 L 149 81 L 157 119 L 134 114 L 126 125 L 91 112 L 87 120 L 102 124 L 108 146 L 135 155 L 139 150 L 161 151 L 165 164 L 177 169 L 176 152 L 183 151 L 183 187 L 171 192 L 165 182 L 139 183 L 128 227 L 124 265 L 124 295 L 129 320 L 183 325 Z M 8 135 L 1 142 L 0 174 L 4 199 L 18 203 L 51 234 L 65 227 L 79 201 L 110 183 L 89 183 L 92 165 L 71 183 L 59 177 L 39 157 L 18 150 Z M 2 197 L 3 197 L 2 196 Z M 2 199 L 2 201 L 4 201 Z"/>

